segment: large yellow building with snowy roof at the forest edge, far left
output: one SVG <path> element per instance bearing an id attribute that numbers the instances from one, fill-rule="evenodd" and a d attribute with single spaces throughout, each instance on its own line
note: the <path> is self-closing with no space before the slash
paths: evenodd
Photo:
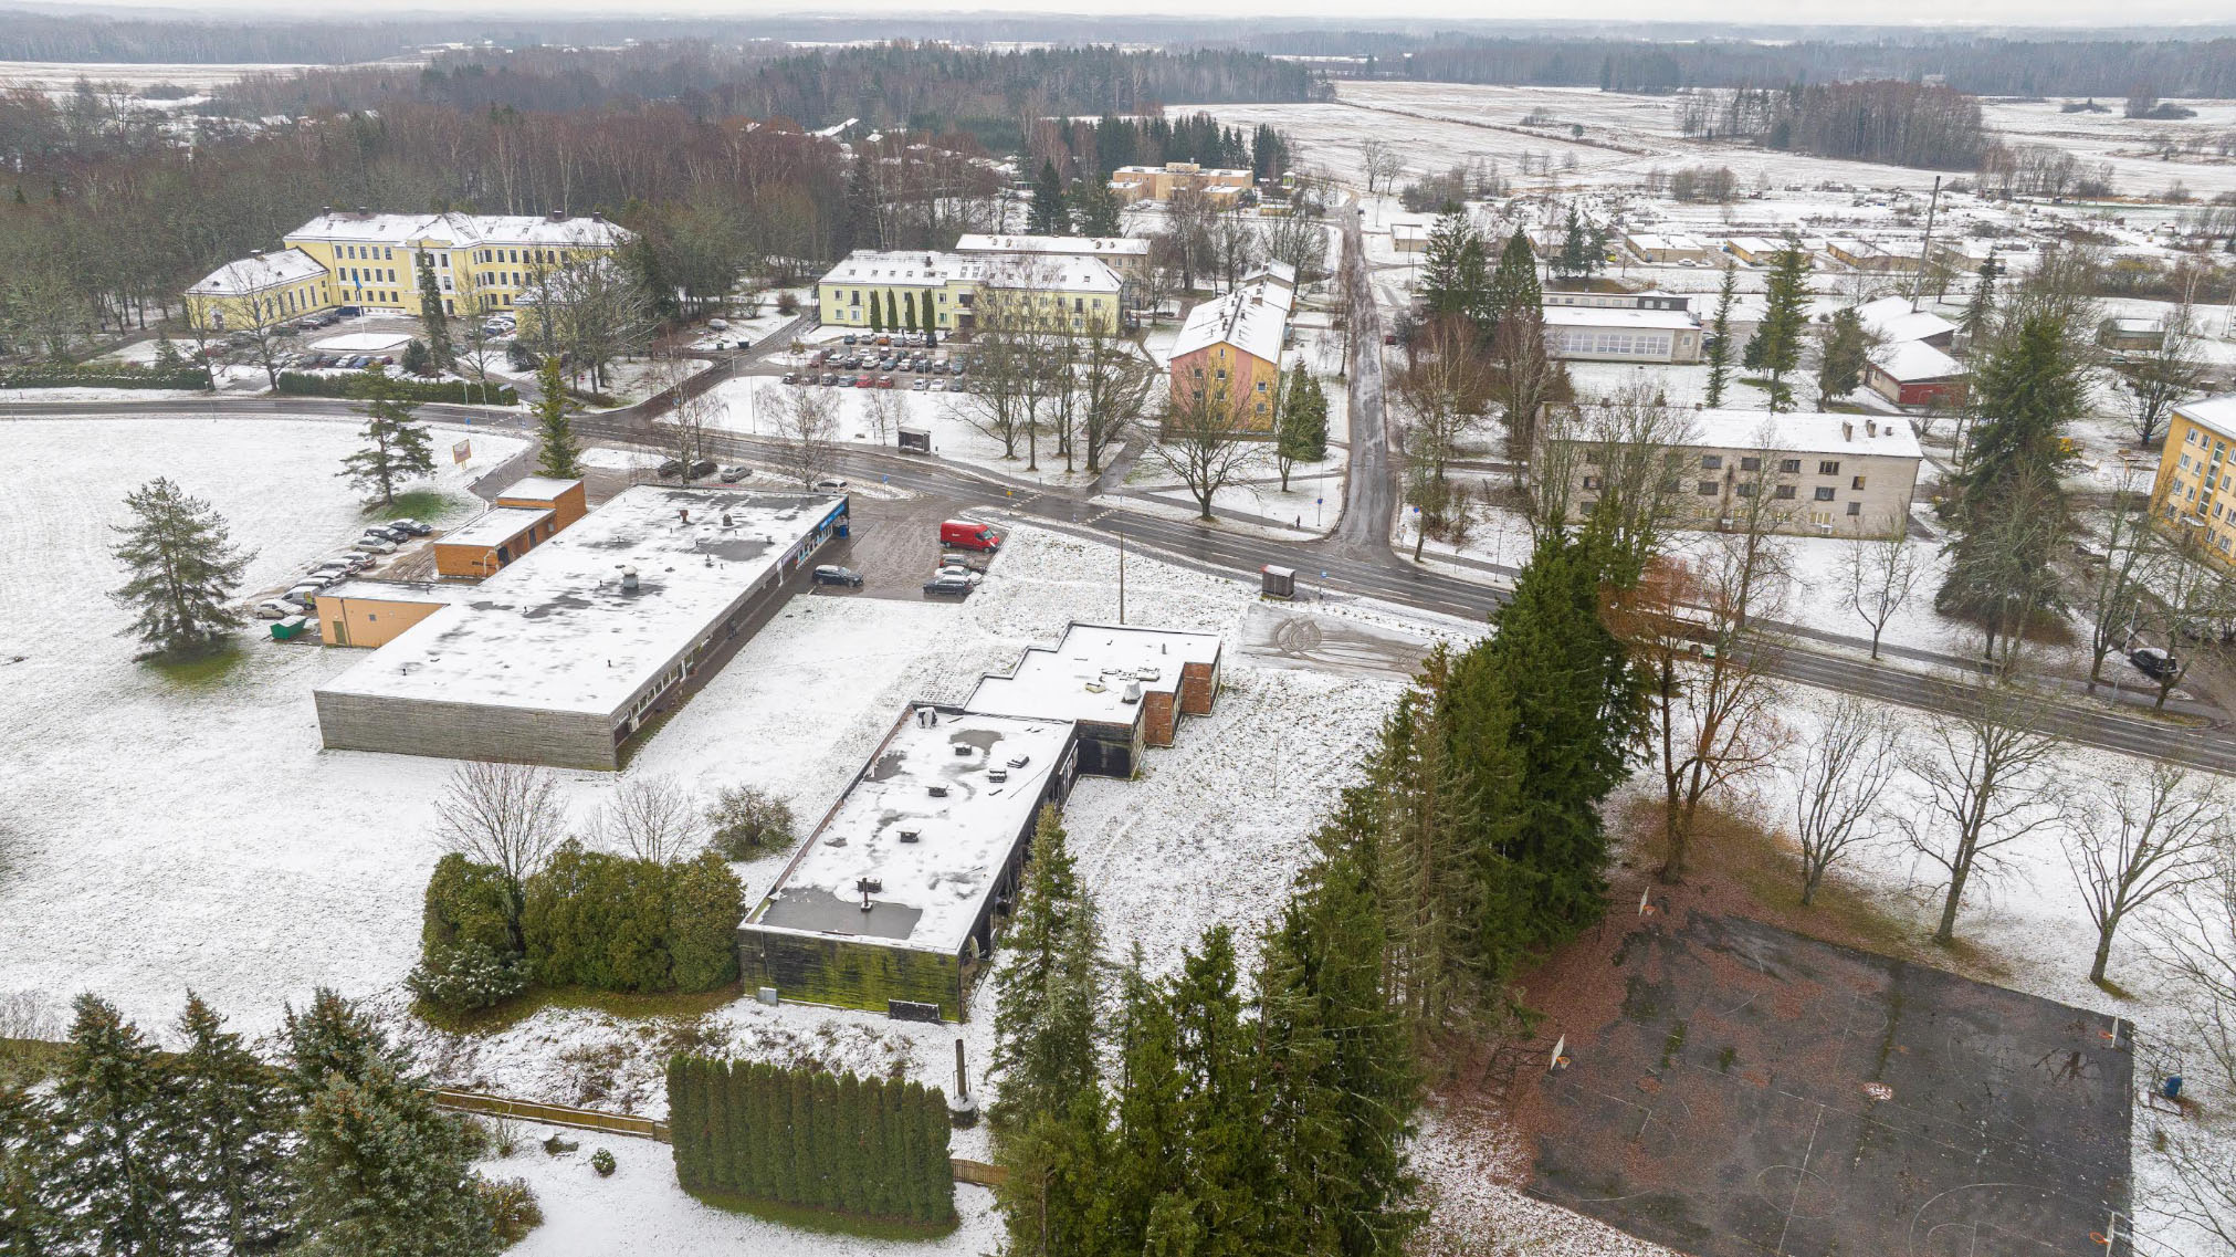
<path id="1" fill-rule="evenodd" d="M 555 271 L 610 257 L 635 239 L 601 215 L 380 215 L 324 210 L 186 291 L 190 318 L 217 331 L 271 327 L 335 306 L 420 311 L 418 259 L 443 313 L 510 311 Z"/>

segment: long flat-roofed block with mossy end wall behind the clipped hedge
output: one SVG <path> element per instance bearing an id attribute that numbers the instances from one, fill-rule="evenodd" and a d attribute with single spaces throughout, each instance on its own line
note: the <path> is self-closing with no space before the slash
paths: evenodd
<path id="1" fill-rule="evenodd" d="M 1042 807 L 1078 776 L 1069 720 L 910 705 L 738 926 L 778 1000 L 964 1020 Z"/>

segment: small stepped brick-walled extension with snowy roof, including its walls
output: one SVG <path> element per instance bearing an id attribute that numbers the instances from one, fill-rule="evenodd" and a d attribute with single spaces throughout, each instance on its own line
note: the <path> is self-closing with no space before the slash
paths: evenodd
<path id="1" fill-rule="evenodd" d="M 1219 700 L 1216 633 L 1071 624 L 1062 642 L 1029 646 L 1008 673 L 988 673 L 964 702 L 997 716 L 1080 727 L 1080 772 L 1134 776 L 1145 747 L 1169 747 L 1181 716 Z"/>

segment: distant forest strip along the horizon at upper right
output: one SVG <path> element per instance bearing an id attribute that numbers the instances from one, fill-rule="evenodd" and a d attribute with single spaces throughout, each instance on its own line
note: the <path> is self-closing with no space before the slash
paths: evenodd
<path id="1" fill-rule="evenodd" d="M 1326 36 L 1310 40 L 1328 45 Z M 1386 38 L 1375 42 L 1386 45 Z M 2236 40 L 1999 40 L 1793 45 L 1643 42 L 1608 38 L 1431 40 L 1380 54 L 1377 76 L 1431 83 L 1514 83 L 1675 92 L 1773 87 L 1842 78 L 1941 76 L 1974 96 L 2236 96 Z"/>

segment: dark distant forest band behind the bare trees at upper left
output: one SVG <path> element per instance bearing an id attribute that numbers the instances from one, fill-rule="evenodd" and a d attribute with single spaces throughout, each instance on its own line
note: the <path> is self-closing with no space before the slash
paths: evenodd
<path id="1" fill-rule="evenodd" d="M 1022 148 L 1022 125 L 1049 114 L 1147 114 L 1165 103 L 1315 101 L 1328 87 L 1304 65 L 1248 51 L 1073 47 L 968 51 L 868 45 L 785 51 L 702 40 L 626 49 L 449 51 L 420 67 L 264 74 L 224 94 L 241 116 L 367 110 L 400 101 L 456 110 L 599 110 L 660 101 L 693 116 L 792 119 L 827 127 L 966 132 L 991 150 Z"/>

